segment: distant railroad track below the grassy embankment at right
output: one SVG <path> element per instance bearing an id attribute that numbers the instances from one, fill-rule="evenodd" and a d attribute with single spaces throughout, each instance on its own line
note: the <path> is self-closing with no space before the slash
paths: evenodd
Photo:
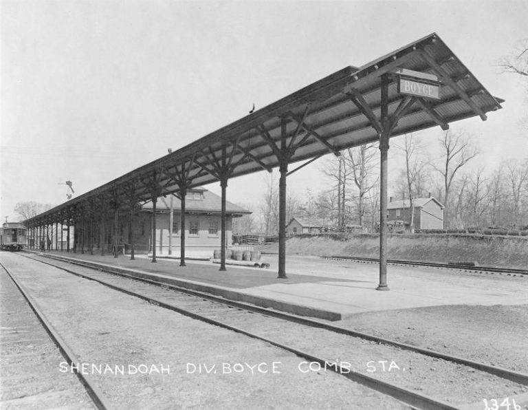
<path id="1" fill-rule="evenodd" d="M 367 257 L 347 257 L 347 256 L 322 256 L 323 259 L 331 259 L 334 261 L 354 261 L 360 263 L 379 263 L 380 259 L 367 258 Z M 528 275 L 526 269 L 515 269 L 515 268 L 493 268 L 489 266 L 471 266 L 464 263 L 434 263 L 434 262 L 421 262 L 421 261 L 406 261 L 399 259 L 387 259 L 387 263 L 393 265 L 407 265 L 407 266 L 427 266 L 430 268 L 442 268 L 442 269 L 455 269 L 464 270 L 466 272 L 484 272 L 484 273 L 498 273 L 507 274 L 510 276 L 524 276 Z"/>

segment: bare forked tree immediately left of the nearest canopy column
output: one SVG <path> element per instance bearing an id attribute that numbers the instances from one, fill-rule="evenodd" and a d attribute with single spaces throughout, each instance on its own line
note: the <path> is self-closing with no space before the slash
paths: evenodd
<path id="1" fill-rule="evenodd" d="M 347 150 L 348 155 L 344 158 L 351 169 L 352 180 L 358 188 L 358 223 L 364 229 L 364 215 L 366 211 L 366 199 L 376 180 L 371 177 L 371 171 L 377 159 L 377 144 L 363 144 L 360 147 Z"/>

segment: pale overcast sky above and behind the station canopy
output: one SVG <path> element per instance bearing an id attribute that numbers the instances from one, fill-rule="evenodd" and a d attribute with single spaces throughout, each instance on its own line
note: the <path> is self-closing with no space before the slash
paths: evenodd
<path id="1" fill-rule="evenodd" d="M 528 38 L 527 17 L 525 0 L 2 0 L 1 220 L 18 219 L 17 202 L 65 202 L 61 182 L 90 191 L 253 103 L 260 109 L 432 32 L 506 100 L 485 122 L 451 126 L 474 136 L 474 166 L 527 158 L 528 86 L 497 67 Z M 441 133 L 417 135 L 434 155 Z M 389 153 L 393 175 L 399 155 Z M 323 161 L 288 178 L 294 192 L 325 188 Z M 228 199 L 258 203 L 266 174 L 230 180 Z"/>

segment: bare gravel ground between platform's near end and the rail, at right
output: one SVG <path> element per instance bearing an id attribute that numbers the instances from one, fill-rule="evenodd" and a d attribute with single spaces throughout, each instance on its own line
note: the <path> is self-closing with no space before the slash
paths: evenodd
<path id="1" fill-rule="evenodd" d="M 355 314 L 336 324 L 528 373 L 528 305 L 448 305 Z"/>

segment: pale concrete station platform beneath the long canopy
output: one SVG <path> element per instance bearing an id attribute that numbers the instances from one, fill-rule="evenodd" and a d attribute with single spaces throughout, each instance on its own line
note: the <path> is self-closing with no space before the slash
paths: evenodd
<path id="1" fill-rule="evenodd" d="M 521 305 L 528 303 L 528 277 L 474 274 L 460 270 L 388 266 L 388 292 L 375 290 L 378 265 L 287 257 L 287 279 L 277 278 L 276 255 L 265 255 L 271 268 L 228 266 L 220 272 L 210 261 L 186 261 L 147 255 L 129 256 L 45 252 L 89 261 L 139 277 L 152 277 L 184 288 L 293 314 L 339 321 L 360 312 L 420 308 L 432 305 Z"/>

